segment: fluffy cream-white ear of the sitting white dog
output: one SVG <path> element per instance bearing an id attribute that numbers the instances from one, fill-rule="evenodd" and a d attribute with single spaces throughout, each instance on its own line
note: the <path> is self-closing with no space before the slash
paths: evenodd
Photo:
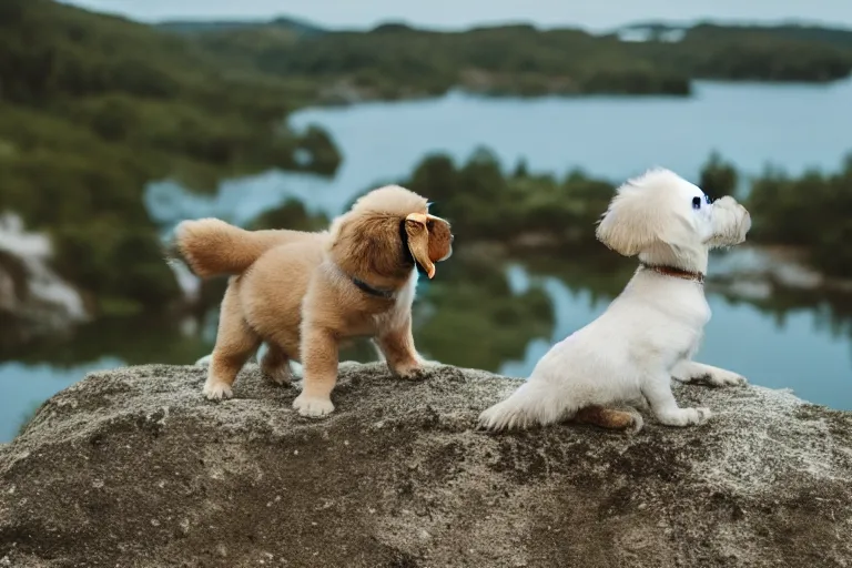
<path id="1" fill-rule="evenodd" d="M 649 211 L 638 187 L 625 185 L 609 203 L 598 222 L 596 235 L 609 248 L 625 256 L 633 256 L 649 247 L 657 239 L 660 212 Z"/>

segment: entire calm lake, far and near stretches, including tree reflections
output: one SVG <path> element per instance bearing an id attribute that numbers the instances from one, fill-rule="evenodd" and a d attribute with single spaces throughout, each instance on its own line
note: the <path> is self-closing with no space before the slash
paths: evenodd
<path id="1" fill-rule="evenodd" d="M 352 196 L 397 181 L 429 152 L 466 159 L 490 148 L 509 168 L 524 158 L 534 171 L 574 168 L 619 182 L 652 165 L 694 178 L 718 150 L 738 168 L 767 164 L 791 173 L 833 170 L 852 151 L 852 81 L 828 87 L 699 83 L 691 99 L 584 98 L 497 100 L 453 93 L 415 102 L 311 109 L 292 116 L 318 123 L 342 148 L 332 180 L 267 172 L 195 195 L 170 182 L 145 197 L 164 234 L 205 215 L 237 224 L 288 196 L 338 213 Z M 852 189 L 851 189 L 852 190 Z M 459 254 L 423 283 L 417 301 L 418 347 L 464 366 L 527 375 L 555 342 L 600 314 L 630 276 L 632 264 L 609 258 L 477 260 Z M 713 266 L 711 263 L 710 272 Z M 708 286 L 713 317 L 699 358 L 752 383 L 792 388 L 805 399 L 852 409 L 852 297 L 775 292 L 761 301 Z M 98 322 L 0 363 L 0 442 L 53 393 L 87 372 L 121 364 L 191 363 L 209 353 L 215 313 L 181 322 Z"/>

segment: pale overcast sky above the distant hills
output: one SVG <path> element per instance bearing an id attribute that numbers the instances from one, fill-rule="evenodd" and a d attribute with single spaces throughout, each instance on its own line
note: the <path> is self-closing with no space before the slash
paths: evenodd
<path id="1" fill-rule="evenodd" d="M 2 1 L 2 0 L 0 0 Z M 332 28 L 385 21 L 464 28 L 528 21 L 607 29 L 648 19 L 779 21 L 798 19 L 852 27 L 852 0 L 63 0 L 138 20 L 255 19 L 292 16 Z"/>

